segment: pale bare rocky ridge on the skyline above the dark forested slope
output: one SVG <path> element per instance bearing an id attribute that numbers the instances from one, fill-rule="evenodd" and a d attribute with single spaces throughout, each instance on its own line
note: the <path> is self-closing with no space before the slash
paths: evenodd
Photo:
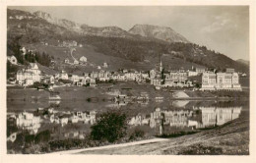
<path id="1" fill-rule="evenodd" d="M 18 10 L 8 10 L 10 13 L 17 13 Z M 23 12 L 23 11 L 21 11 Z M 18 14 L 20 14 L 18 12 Z M 65 27 L 70 31 L 78 32 L 81 35 L 96 35 L 103 37 L 122 37 L 130 39 L 145 39 L 145 40 L 163 40 L 167 42 L 189 42 L 184 36 L 175 32 L 170 27 L 156 27 L 150 25 L 136 25 L 129 31 L 126 31 L 120 27 L 90 27 L 88 25 L 80 25 L 75 22 L 58 19 L 51 16 L 48 13 L 36 11 L 34 13 L 23 12 L 25 15 L 31 15 L 32 19 L 42 19 L 46 22 L 57 25 L 59 27 Z M 24 17 L 27 19 L 27 17 Z"/>

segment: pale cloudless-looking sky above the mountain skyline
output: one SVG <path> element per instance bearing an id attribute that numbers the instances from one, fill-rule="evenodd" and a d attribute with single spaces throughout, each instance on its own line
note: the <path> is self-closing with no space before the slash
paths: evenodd
<path id="1" fill-rule="evenodd" d="M 236 60 L 249 60 L 248 6 L 69 6 L 8 7 L 43 11 L 93 27 L 129 30 L 136 24 L 171 27 L 189 41 Z"/>

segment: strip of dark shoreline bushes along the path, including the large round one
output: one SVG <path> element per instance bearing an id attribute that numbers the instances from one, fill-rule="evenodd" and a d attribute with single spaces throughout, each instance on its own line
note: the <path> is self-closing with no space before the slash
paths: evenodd
<path id="1" fill-rule="evenodd" d="M 30 135 L 27 131 L 19 133 L 15 142 L 7 142 L 8 153 L 45 153 L 59 150 L 102 146 L 111 143 L 124 143 L 145 137 L 143 131 L 135 130 L 127 134 L 126 115 L 120 112 L 107 112 L 99 116 L 92 132 L 85 138 L 52 139 L 49 130 Z M 7 136 L 18 129 L 8 122 Z"/>

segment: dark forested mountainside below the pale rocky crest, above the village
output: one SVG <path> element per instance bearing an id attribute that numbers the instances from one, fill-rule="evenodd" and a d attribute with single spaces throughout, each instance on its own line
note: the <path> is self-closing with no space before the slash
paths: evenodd
<path id="1" fill-rule="evenodd" d="M 24 15 L 24 18 L 20 18 L 21 15 Z M 52 17 L 45 15 L 45 19 L 52 19 Z M 68 27 L 63 27 L 49 23 L 28 12 L 11 10 L 8 10 L 7 23 L 8 41 L 11 43 L 12 39 L 19 38 L 22 45 L 47 42 L 47 44 L 59 48 L 59 42 L 76 40 L 79 44 L 92 46 L 96 49 L 96 52 L 106 56 L 119 57 L 138 64 L 147 60 L 155 64 L 159 61 L 160 54 L 166 54 L 169 60 L 178 58 L 184 60 L 184 63 L 188 61 L 208 68 L 222 70 L 235 68 L 241 72 L 248 71 L 248 66 L 214 50 L 208 50 L 205 46 L 199 46 L 191 42 L 171 42 L 155 37 L 131 34 L 120 27 L 89 27 L 88 25 L 81 25 L 82 29 L 76 31 L 72 29 L 72 27 L 75 27 L 73 26 L 74 24 L 69 24 L 69 22 L 67 22 Z M 148 25 L 146 27 L 152 26 Z M 165 29 L 163 27 L 163 31 Z M 167 28 L 167 30 L 171 31 L 171 28 Z M 54 56 L 54 54 L 49 54 Z M 64 60 L 62 55 L 60 59 Z M 171 68 L 177 67 L 178 69 L 180 67 L 179 65 L 173 66 L 170 65 Z"/>

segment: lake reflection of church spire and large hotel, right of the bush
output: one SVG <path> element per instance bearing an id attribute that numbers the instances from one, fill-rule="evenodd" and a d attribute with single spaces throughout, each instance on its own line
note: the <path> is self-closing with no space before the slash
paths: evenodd
<path id="1" fill-rule="evenodd" d="M 161 110 L 157 108 L 149 115 L 138 114 L 129 120 L 131 126 L 149 125 L 159 129 L 161 135 L 164 129 L 179 128 L 204 129 L 224 125 L 239 118 L 242 107 L 193 107 L 192 110 Z"/>

